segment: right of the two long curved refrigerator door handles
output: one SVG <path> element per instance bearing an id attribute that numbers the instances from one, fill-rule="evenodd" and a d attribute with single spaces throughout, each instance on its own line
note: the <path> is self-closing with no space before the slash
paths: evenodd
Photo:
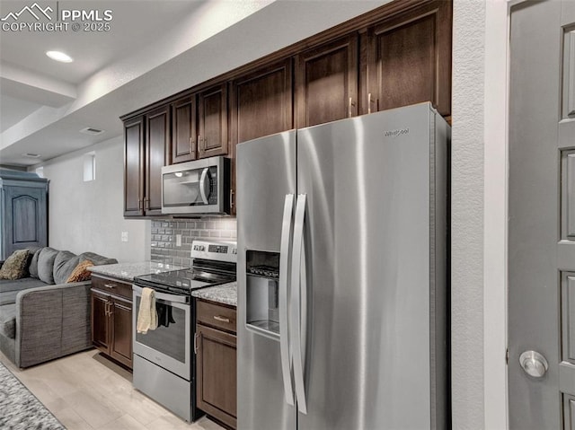
<path id="1" fill-rule="evenodd" d="M 297 408 L 307 414 L 305 399 L 305 342 L 307 330 L 307 285 L 305 278 L 304 221 L 307 196 L 297 196 L 296 220 L 294 223 L 294 248 L 291 272 L 291 340 L 294 360 L 294 382 L 296 385 Z"/>

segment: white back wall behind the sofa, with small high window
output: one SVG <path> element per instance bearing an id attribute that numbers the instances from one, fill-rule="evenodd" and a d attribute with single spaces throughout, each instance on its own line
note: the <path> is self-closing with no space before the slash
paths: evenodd
<path id="1" fill-rule="evenodd" d="M 96 179 L 84 182 L 84 154 L 96 157 Z M 123 217 L 123 139 L 112 138 L 43 164 L 49 183 L 49 246 L 86 250 L 119 261 L 150 259 L 150 222 Z M 128 242 L 120 241 L 128 232 Z"/>

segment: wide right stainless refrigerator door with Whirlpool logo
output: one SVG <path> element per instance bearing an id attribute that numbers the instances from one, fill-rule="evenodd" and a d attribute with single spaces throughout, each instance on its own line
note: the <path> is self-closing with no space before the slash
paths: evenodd
<path id="1" fill-rule="evenodd" d="M 434 118 L 422 103 L 298 130 L 309 292 L 299 430 L 436 428 L 445 346 L 432 339 L 445 317 L 432 297 L 445 294 L 434 273 L 446 260 L 432 227 Z"/>

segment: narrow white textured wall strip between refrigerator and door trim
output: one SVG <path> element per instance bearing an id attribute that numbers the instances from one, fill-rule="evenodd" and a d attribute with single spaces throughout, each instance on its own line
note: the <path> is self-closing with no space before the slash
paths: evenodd
<path id="1" fill-rule="evenodd" d="M 452 105 L 453 428 L 483 428 L 483 66 L 485 3 L 456 0 Z"/>

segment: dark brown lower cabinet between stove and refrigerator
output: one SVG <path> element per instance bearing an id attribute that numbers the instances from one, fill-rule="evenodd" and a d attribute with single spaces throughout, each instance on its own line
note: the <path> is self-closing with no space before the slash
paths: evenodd
<path id="1" fill-rule="evenodd" d="M 211 325 L 211 320 L 201 311 L 202 304 L 208 304 L 209 310 L 214 311 L 211 320 L 216 323 L 215 327 L 223 326 L 218 324 L 221 320 L 233 322 L 235 327 L 234 316 L 230 317 L 232 312 L 235 315 L 234 309 L 199 302 L 195 339 L 198 408 L 226 426 L 235 428 L 237 421 L 235 331 L 224 331 L 205 325 L 204 323 Z M 222 312 L 218 312 L 218 309 Z"/>

